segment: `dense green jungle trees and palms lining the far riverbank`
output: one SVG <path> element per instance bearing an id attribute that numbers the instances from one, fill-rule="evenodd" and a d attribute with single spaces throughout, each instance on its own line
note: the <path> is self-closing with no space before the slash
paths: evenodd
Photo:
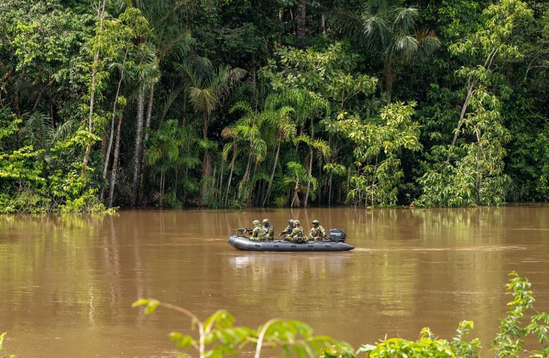
<path id="1" fill-rule="evenodd" d="M 0 0 L 0 212 L 549 198 L 549 2 Z"/>

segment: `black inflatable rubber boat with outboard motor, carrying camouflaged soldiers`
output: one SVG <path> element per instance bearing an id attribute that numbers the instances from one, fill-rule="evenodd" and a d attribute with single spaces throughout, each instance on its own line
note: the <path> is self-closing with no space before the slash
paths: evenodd
<path id="1" fill-rule="evenodd" d="M 292 241 L 252 241 L 245 236 L 232 235 L 227 243 L 238 250 L 268 251 L 268 252 L 302 252 L 302 251 L 349 251 L 354 246 L 345 244 L 343 230 L 332 229 L 328 237 L 330 241 L 307 241 L 306 243 L 293 243 Z"/>

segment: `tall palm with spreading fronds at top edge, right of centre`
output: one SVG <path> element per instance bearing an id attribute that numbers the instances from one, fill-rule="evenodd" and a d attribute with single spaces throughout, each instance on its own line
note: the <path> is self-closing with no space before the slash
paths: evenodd
<path id="1" fill-rule="evenodd" d="M 430 30 L 417 30 L 419 10 L 398 7 L 393 0 L 369 0 L 362 13 L 334 13 L 341 29 L 384 58 L 386 102 L 391 102 L 399 66 L 422 60 L 440 47 Z"/>

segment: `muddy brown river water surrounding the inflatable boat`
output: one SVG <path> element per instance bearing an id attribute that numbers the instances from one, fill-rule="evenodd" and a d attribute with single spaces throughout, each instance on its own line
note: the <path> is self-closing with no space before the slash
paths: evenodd
<path id="1" fill-rule="evenodd" d="M 341 228 L 349 252 L 234 250 L 231 228 L 289 217 Z M 498 331 L 517 271 L 536 308 L 549 310 L 549 206 L 474 209 L 121 211 L 114 216 L 0 216 L 0 333 L 25 357 L 173 356 L 170 331 L 189 321 L 138 298 L 177 304 L 200 318 L 218 309 L 256 327 L 273 317 L 362 343 L 422 327 L 450 338 L 462 320 L 483 356 Z M 269 356 L 268 351 L 265 356 Z"/>

